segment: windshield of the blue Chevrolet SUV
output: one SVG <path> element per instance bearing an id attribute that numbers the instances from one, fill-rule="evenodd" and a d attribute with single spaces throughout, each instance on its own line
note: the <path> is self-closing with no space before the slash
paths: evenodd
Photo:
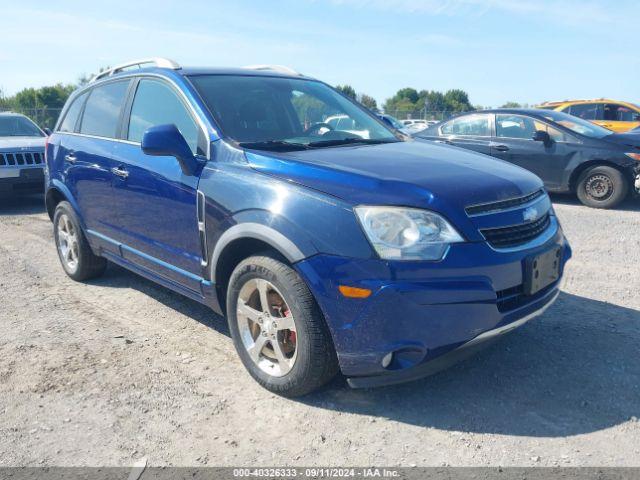
<path id="1" fill-rule="evenodd" d="M 361 107 L 314 80 L 195 75 L 191 81 L 224 135 L 257 149 L 399 141 Z"/>

